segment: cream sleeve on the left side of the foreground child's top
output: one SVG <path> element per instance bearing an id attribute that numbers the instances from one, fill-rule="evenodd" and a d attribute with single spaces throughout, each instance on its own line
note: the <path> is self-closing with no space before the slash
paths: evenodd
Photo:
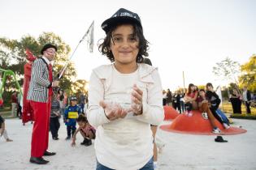
<path id="1" fill-rule="evenodd" d="M 98 127 L 110 122 L 104 113 L 103 108 L 99 105 L 100 100 L 104 100 L 104 87 L 101 79 L 94 73 L 89 80 L 89 108 L 87 118 L 90 125 Z"/>

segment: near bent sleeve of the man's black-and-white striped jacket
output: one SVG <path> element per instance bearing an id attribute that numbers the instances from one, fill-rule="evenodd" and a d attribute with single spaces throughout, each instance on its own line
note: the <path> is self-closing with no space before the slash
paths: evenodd
<path id="1" fill-rule="evenodd" d="M 41 60 L 36 60 L 33 62 L 32 67 L 32 77 L 35 80 L 35 82 L 43 87 L 49 87 L 50 81 L 48 79 L 43 79 L 43 71 L 42 66 L 44 66 L 45 63 Z"/>

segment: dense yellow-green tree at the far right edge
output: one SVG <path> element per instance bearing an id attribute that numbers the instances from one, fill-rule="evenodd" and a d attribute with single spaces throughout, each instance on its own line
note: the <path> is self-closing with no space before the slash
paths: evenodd
<path id="1" fill-rule="evenodd" d="M 256 54 L 249 57 L 249 62 L 241 66 L 241 71 L 240 85 L 247 86 L 251 91 L 256 91 Z"/>

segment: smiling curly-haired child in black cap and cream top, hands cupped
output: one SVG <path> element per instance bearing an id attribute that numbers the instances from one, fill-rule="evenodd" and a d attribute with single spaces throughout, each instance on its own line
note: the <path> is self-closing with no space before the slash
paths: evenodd
<path id="1" fill-rule="evenodd" d="M 150 124 L 163 121 L 163 89 L 158 70 L 139 63 L 148 55 L 141 20 L 121 8 L 102 29 L 106 38 L 99 50 L 114 63 L 94 69 L 89 81 L 88 121 L 97 127 L 96 169 L 153 170 Z"/>

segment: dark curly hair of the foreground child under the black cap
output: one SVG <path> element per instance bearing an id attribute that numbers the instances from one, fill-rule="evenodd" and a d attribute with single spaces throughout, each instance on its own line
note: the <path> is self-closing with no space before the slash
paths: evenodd
<path id="1" fill-rule="evenodd" d="M 115 58 L 113 56 L 113 53 L 111 51 L 111 37 L 112 32 L 115 31 L 117 27 L 124 24 L 131 24 L 133 27 L 133 36 L 137 36 L 139 38 L 139 53 L 137 54 L 136 62 L 143 62 L 143 56 L 148 57 L 149 53 L 147 52 L 149 49 L 149 42 L 145 40 L 145 37 L 143 35 L 143 29 L 139 27 L 135 23 L 119 23 L 115 25 L 115 27 L 111 28 L 109 32 L 106 33 L 106 37 L 101 45 L 99 45 L 98 50 L 103 55 L 106 55 L 106 57 L 111 61 L 114 62 Z"/>

